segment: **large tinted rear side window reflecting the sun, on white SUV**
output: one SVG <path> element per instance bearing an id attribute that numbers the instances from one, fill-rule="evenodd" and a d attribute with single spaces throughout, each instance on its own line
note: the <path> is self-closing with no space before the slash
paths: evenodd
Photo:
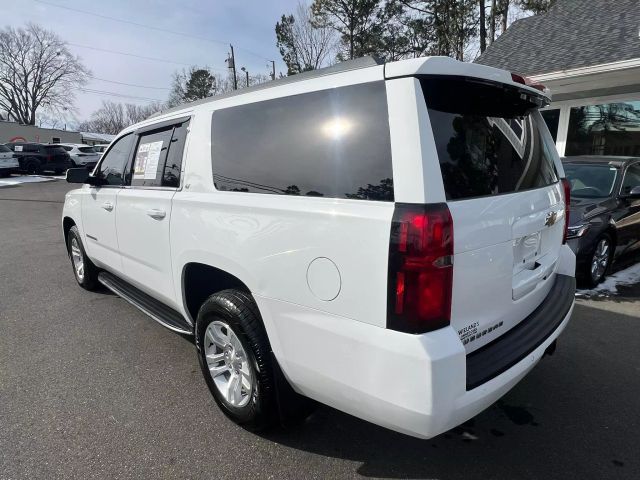
<path id="1" fill-rule="evenodd" d="M 393 201 L 383 82 L 213 113 L 218 190 Z"/>

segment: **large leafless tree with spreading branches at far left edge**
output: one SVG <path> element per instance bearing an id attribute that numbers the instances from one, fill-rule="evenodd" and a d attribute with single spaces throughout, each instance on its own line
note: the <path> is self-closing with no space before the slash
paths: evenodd
<path id="1" fill-rule="evenodd" d="M 0 108 L 9 120 L 35 125 L 39 108 L 72 110 L 88 75 L 55 33 L 33 23 L 0 30 Z"/>

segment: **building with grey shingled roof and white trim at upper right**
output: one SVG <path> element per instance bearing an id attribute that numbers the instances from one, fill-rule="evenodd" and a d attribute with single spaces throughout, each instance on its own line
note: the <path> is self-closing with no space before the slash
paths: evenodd
<path id="1" fill-rule="evenodd" d="M 551 90 L 542 113 L 561 156 L 640 156 L 638 0 L 558 0 L 514 22 L 476 63 Z"/>

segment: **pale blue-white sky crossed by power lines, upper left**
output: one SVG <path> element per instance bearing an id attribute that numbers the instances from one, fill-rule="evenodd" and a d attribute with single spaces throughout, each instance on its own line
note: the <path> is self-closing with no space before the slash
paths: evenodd
<path id="1" fill-rule="evenodd" d="M 276 72 L 286 71 L 275 45 L 274 27 L 283 13 L 294 11 L 296 4 L 297 0 L 0 0 L 0 26 L 20 27 L 27 22 L 35 22 L 68 42 L 69 49 L 82 59 L 94 77 L 156 87 L 132 87 L 91 79 L 86 88 L 166 100 L 172 73 L 177 69 L 206 65 L 214 72 L 225 74 L 224 60 L 229 43 L 235 48 L 238 70 L 245 66 L 251 74 L 267 74 L 270 71 L 268 60 L 275 60 Z M 76 10 L 203 39 L 143 28 Z M 165 61 L 118 55 L 80 45 Z M 100 107 L 102 100 L 149 102 L 79 92 L 75 105 L 77 118 L 89 117 Z"/>

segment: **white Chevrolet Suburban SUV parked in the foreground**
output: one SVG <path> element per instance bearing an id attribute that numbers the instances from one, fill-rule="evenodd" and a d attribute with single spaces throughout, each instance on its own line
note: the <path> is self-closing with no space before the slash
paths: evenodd
<path id="1" fill-rule="evenodd" d="M 76 280 L 194 335 L 247 428 L 313 399 L 432 437 L 571 316 L 548 102 L 503 70 L 364 58 L 167 110 L 67 173 Z"/>

